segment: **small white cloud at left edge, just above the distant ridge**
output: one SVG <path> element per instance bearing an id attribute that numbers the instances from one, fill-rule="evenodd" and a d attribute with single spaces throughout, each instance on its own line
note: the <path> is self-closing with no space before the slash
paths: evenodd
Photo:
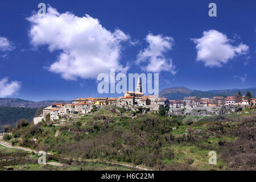
<path id="1" fill-rule="evenodd" d="M 8 78 L 2 78 L 0 80 L 0 97 L 12 96 L 20 89 L 19 81 L 8 82 Z"/>

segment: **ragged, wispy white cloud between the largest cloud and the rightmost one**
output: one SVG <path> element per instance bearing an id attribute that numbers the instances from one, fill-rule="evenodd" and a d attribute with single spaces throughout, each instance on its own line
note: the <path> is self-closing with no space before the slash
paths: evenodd
<path id="1" fill-rule="evenodd" d="M 146 42 L 149 45 L 139 52 L 136 63 L 148 63 L 146 66 L 142 66 L 142 69 L 147 72 L 170 71 L 172 75 L 175 75 L 176 71 L 175 66 L 172 64 L 172 59 L 167 59 L 165 56 L 165 53 L 172 49 L 174 38 L 148 34 Z"/>

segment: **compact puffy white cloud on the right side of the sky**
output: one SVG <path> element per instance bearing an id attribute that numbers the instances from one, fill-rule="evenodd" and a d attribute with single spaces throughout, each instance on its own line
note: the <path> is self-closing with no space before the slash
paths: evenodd
<path id="1" fill-rule="evenodd" d="M 205 67 L 222 67 L 234 57 L 249 52 L 249 46 L 243 43 L 232 46 L 232 40 L 217 30 L 204 31 L 200 39 L 191 40 L 196 44 L 196 60 L 202 61 Z"/>

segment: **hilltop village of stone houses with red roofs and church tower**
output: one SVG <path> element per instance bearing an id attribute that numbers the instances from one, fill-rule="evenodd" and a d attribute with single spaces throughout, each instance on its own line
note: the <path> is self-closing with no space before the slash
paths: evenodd
<path id="1" fill-rule="evenodd" d="M 118 98 L 77 98 L 72 104 L 54 104 L 43 109 L 43 114 L 34 118 L 34 123 L 46 119 L 47 114 L 50 120 L 54 121 L 65 115 L 73 117 L 75 114 L 86 114 L 94 107 L 106 108 L 108 106 L 124 107 L 127 110 L 136 110 L 143 107 L 150 112 L 159 110 L 160 105 L 168 108 L 166 115 L 187 115 L 187 114 L 225 114 L 229 111 L 237 111 L 239 107 L 256 105 L 256 98 L 245 99 L 245 96 L 238 98 L 237 96 L 228 97 L 184 97 L 183 100 L 167 100 L 164 97 L 144 96 L 142 93 L 141 79 L 138 78 L 136 92 L 127 91 L 123 97 Z M 225 109 L 223 109 L 225 108 Z"/>

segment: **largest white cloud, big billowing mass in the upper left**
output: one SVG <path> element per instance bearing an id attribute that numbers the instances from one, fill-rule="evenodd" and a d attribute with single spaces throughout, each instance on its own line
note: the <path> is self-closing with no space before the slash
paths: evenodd
<path id="1" fill-rule="evenodd" d="M 49 71 L 60 73 L 64 79 L 96 78 L 110 68 L 127 71 L 119 59 L 121 42 L 129 42 L 130 37 L 121 30 L 111 32 L 89 15 L 60 14 L 52 7 L 48 7 L 45 16 L 35 13 L 27 20 L 31 23 L 29 34 L 35 47 L 47 45 L 51 52 L 61 51 Z"/>

